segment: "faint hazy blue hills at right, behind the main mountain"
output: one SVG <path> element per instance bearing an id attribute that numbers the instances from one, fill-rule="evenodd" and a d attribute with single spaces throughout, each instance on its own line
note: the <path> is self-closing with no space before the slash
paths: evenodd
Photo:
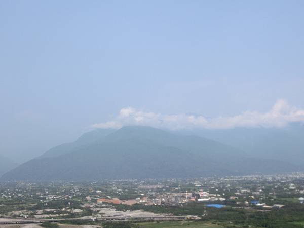
<path id="1" fill-rule="evenodd" d="M 293 123 L 283 128 L 200 129 L 188 134 L 231 145 L 246 151 L 251 156 L 287 161 L 299 166 L 304 164 L 304 124 L 302 123 Z"/>

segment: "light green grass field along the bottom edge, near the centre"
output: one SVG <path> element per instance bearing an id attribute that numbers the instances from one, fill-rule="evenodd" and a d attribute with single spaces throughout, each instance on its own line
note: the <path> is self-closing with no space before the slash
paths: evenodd
<path id="1" fill-rule="evenodd" d="M 167 227 L 188 227 L 188 228 L 222 228 L 223 226 L 206 223 L 206 222 L 145 222 L 138 223 L 142 228 L 167 228 Z"/>

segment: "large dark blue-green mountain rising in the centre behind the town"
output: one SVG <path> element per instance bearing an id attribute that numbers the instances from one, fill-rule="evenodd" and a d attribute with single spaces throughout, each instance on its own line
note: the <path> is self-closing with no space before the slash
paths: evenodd
<path id="1" fill-rule="evenodd" d="M 7 172 L 4 180 L 183 178 L 299 171 L 276 159 L 150 127 L 94 130 Z"/>

